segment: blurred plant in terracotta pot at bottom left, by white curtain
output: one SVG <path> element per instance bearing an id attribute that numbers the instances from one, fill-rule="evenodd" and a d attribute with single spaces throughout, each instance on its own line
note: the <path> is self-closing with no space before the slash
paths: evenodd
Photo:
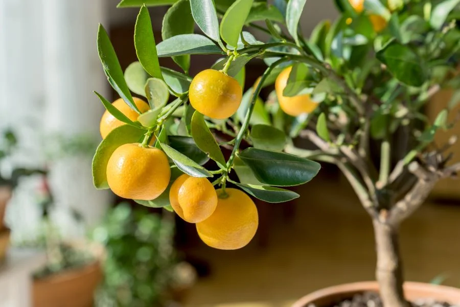
<path id="1" fill-rule="evenodd" d="M 87 240 L 63 239 L 50 219 L 54 200 L 46 176 L 43 176 L 40 194 L 43 233 L 37 242 L 21 244 L 43 248 L 47 253 L 46 264 L 34 273 L 34 306 L 92 306 L 102 279 L 103 248 Z M 72 215 L 82 223 L 79 212 L 73 211 Z"/>

